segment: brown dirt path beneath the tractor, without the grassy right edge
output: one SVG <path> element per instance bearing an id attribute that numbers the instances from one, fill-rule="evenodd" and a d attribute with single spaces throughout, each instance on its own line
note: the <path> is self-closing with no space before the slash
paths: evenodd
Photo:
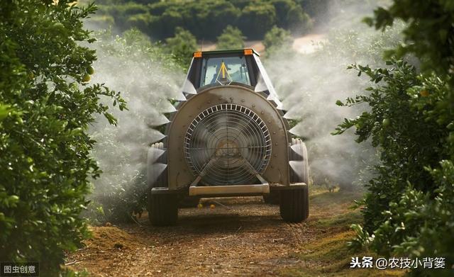
<path id="1" fill-rule="evenodd" d="M 87 247 L 67 263 L 87 268 L 94 276 L 276 276 L 282 268 L 301 263 L 295 258 L 304 244 L 323 230 L 310 228 L 311 219 L 287 224 L 279 208 L 262 198 L 204 200 L 204 208 L 179 211 L 173 227 L 152 227 L 147 215 L 140 225 L 92 227 Z"/>

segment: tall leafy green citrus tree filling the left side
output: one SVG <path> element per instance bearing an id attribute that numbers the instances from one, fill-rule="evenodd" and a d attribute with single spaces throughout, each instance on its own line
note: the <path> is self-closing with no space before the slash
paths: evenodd
<path id="1" fill-rule="evenodd" d="M 92 4 L 1 1 L 0 11 L 0 260 L 39 261 L 42 276 L 57 276 L 87 234 L 79 213 L 100 174 L 87 128 L 96 113 L 116 123 L 100 97 L 125 103 L 89 84 Z"/>

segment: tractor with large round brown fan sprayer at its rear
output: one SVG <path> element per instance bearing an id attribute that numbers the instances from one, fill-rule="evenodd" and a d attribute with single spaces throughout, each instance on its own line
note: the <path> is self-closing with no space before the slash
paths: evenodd
<path id="1" fill-rule="evenodd" d="M 148 214 L 173 225 L 200 198 L 263 196 L 286 222 L 309 216 L 304 142 L 253 49 L 194 52 L 165 138 L 148 150 Z"/>

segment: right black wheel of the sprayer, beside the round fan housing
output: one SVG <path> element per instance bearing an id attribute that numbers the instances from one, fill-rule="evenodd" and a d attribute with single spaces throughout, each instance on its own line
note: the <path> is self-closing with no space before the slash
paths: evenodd
<path id="1" fill-rule="evenodd" d="M 279 210 L 283 220 L 301 222 L 309 217 L 309 164 L 304 142 L 292 139 L 292 146 L 293 149 L 289 149 L 289 160 L 302 162 L 302 169 L 300 172 L 290 169 L 290 183 L 306 183 L 306 186 L 280 191 Z"/>

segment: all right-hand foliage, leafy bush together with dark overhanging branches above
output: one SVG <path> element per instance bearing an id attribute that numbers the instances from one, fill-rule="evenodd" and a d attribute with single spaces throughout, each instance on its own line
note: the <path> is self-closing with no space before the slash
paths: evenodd
<path id="1" fill-rule="evenodd" d="M 367 18 L 383 28 L 400 18 L 408 44 L 388 55 L 416 55 L 421 73 L 406 62 L 371 69 L 354 65 L 374 86 L 340 106 L 367 103 L 368 111 L 345 119 L 336 134 L 355 128 L 358 142 L 372 140 L 380 151 L 377 174 L 362 201 L 364 230 L 353 247 L 367 246 L 386 256 L 444 257 L 445 270 L 416 276 L 450 276 L 454 265 L 454 86 L 452 1 L 394 1 Z"/>

